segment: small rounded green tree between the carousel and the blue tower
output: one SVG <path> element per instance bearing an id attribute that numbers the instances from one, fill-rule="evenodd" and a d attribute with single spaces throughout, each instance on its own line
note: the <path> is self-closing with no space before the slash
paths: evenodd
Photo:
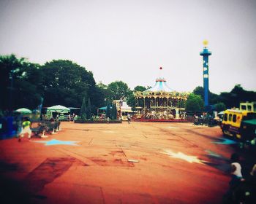
<path id="1" fill-rule="evenodd" d="M 203 99 L 200 95 L 189 94 L 186 103 L 186 111 L 203 111 Z"/>

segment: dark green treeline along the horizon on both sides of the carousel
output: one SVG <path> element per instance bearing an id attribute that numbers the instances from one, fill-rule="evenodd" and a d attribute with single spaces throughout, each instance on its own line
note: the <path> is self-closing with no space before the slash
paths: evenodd
<path id="1" fill-rule="evenodd" d="M 0 56 L 0 77 L 1 111 L 21 107 L 37 109 L 40 103 L 44 107 L 59 104 L 80 108 L 85 98 L 86 103 L 90 100 L 91 111 L 96 114 L 97 108 L 120 98 L 126 98 L 135 107 L 132 93 L 149 88 L 138 85 L 130 90 L 121 81 L 96 84 L 91 71 L 71 60 L 52 60 L 41 66 L 15 55 Z M 203 109 L 203 87 L 196 87 L 189 100 L 192 103 L 188 101 L 188 110 Z M 219 104 L 219 109 L 238 107 L 241 101 L 256 101 L 256 93 L 236 85 L 230 93 L 209 94 L 209 102 L 217 107 Z"/>

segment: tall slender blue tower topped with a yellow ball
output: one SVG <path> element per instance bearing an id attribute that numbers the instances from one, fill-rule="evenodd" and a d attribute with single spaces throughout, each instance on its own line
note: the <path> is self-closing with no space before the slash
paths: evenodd
<path id="1" fill-rule="evenodd" d="M 208 51 L 208 41 L 203 41 L 204 47 L 203 52 L 200 52 L 200 55 L 203 56 L 203 88 L 204 88 L 204 102 L 205 107 L 209 106 L 208 103 L 208 93 L 209 93 L 209 74 L 208 74 L 208 56 L 211 55 L 211 52 Z"/>

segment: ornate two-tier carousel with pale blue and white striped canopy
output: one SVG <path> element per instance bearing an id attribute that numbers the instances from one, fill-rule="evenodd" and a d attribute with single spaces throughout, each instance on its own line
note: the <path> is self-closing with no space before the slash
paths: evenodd
<path id="1" fill-rule="evenodd" d="M 162 67 L 159 68 L 162 70 Z M 156 79 L 154 87 L 134 93 L 136 118 L 140 120 L 180 121 L 186 117 L 185 104 L 189 93 L 178 93 L 168 87 L 165 78 Z"/>

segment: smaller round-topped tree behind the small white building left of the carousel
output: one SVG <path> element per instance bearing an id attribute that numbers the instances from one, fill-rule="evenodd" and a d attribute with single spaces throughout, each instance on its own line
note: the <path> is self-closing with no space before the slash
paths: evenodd
<path id="1" fill-rule="evenodd" d="M 108 85 L 108 90 L 110 91 L 110 98 L 112 100 L 118 100 L 120 98 L 126 98 L 129 93 L 129 87 L 126 83 L 121 81 L 112 82 Z"/>

